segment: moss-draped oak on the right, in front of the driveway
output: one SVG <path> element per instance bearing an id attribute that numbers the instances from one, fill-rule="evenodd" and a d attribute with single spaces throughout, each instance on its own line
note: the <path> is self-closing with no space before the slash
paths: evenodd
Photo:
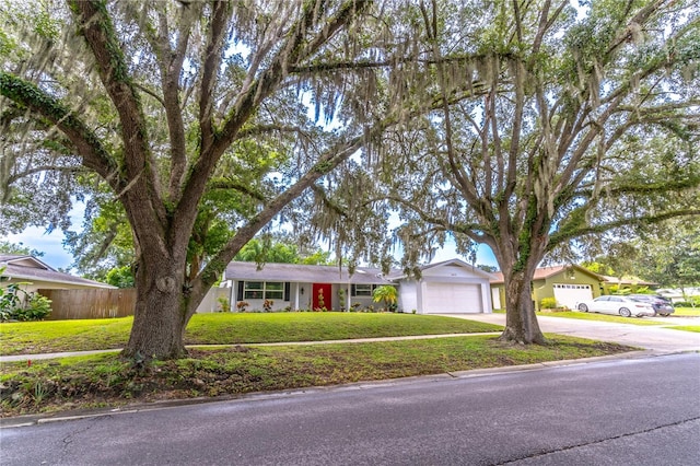
<path id="1" fill-rule="evenodd" d="M 419 10 L 416 40 L 429 53 L 405 88 L 439 95 L 440 108 L 387 131 L 384 156 L 334 178 L 325 203 L 343 225 L 360 219 L 354 232 L 378 222 L 389 233 L 388 214 L 359 215 L 396 212 L 389 237 L 407 268 L 446 235 L 466 254 L 488 245 L 505 281 L 502 338 L 541 342 L 530 287 L 544 259 L 585 253 L 606 232 L 629 237 L 682 215 L 697 224 L 697 2 L 433 0 Z M 316 221 L 331 234 L 328 215 Z"/>

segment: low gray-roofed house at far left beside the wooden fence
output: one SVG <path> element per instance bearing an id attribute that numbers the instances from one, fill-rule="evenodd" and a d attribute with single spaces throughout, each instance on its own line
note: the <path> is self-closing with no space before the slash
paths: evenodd
<path id="1" fill-rule="evenodd" d="M 0 277 L 0 287 L 2 288 L 11 283 L 27 283 L 22 286 L 22 289 L 26 292 L 34 292 L 36 290 L 116 288 L 110 284 L 100 283 L 57 271 L 33 256 L 0 254 L 0 268 L 3 267 L 4 271 Z"/>

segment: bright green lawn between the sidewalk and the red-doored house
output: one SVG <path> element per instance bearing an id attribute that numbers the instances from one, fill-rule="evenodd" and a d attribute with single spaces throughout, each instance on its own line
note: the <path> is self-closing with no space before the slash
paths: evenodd
<path id="1" fill-rule="evenodd" d="M 31 354 L 121 348 L 132 317 L 0 324 L 0 353 Z M 500 331 L 455 317 L 389 313 L 217 313 L 195 315 L 187 345 L 320 341 L 409 335 Z"/>

